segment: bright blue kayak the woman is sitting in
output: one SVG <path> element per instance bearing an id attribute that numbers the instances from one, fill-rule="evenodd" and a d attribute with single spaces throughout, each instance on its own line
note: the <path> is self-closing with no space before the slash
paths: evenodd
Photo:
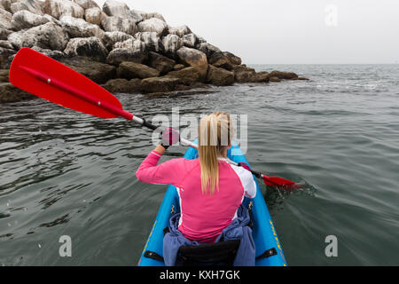
<path id="1" fill-rule="evenodd" d="M 233 145 L 228 150 L 227 156 L 233 162 L 245 162 L 246 157 L 242 154 L 239 146 Z M 198 152 L 196 149 L 190 147 L 184 154 L 185 159 L 197 159 Z M 261 188 L 255 179 L 257 193 L 254 199 L 250 200 L 245 198 L 243 201 L 244 206 L 251 208 L 251 220 L 253 225 L 253 238 L 256 250 L 255 266 L 286 266 L 286 257 L 284 256 L 283 249 L 278 234 L 271 220 L 269 209 L 264 201 Z M 162 261 L 162 246 L 164 229 L 168 227 L 169 218 L 175 212 L 179 212 L 179 197 L 177 195 L 176 187 L 168 185 L 167 193 L 160 204 L 158 215 L 153 223 L 152 230 L 145 243 L 138 266 L 164 266 Z M 152 255 L 159 257 L 150 257 Z"/>

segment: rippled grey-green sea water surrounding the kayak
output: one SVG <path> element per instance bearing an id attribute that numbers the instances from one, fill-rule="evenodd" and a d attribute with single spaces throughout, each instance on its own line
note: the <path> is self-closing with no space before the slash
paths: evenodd
<path id="1" fill-rule="evenodd" d="M 118 96 L 151 119 L 248 114 L 247 159 L 301 181 L 278 194 L 262 185 L 291 265 L 397 265 L 399 66 L 254 66 L 309 82 L 239 84 L 174 99 Z M 166 186 L 135 171 L 152 149 L 148 130 L 36 99 L 0 105 L 0 265 L 136 265 Z M 169 148 L 164 160 L 184 154 Z M 59 237 L 72 257 L 59 256 Z M 338 256 L 325 256 L 325 237 Z"/>

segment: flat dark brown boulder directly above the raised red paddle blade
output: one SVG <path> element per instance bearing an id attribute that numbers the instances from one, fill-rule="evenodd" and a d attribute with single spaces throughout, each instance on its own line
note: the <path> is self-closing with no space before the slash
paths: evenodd
<path id="1" fill-rule="evenodd" d="M 115 77 L 116 68 L 112 65 L 100 63 L 85 57 L 74 57 L 72 59 L 61 59 L 67 67 L 74 69 L 88 77 L 95 83 L 106 83 Z"/>

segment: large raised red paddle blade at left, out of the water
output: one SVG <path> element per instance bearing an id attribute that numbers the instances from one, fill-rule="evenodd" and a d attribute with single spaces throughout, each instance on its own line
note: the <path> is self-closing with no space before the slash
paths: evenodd
<path id="1" fill-rule="evenodd" d="M 97 83 L 27 47 L 20 49 L 12 60 L 10 83 L 37 97 L 85 114 L 113 118 L 118 116 L 115 110 L 122 110 L 121 102 Z"/>

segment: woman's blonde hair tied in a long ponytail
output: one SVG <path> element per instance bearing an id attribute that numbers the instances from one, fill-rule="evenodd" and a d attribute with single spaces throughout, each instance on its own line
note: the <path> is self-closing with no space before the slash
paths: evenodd
<path id="1" fill-rule="evenodd" d="M 218 157 L 231 146 L 234 130 L 229 114 L 214 113 L 200 122 L 199 156 L 202 193 L 212 195 L 219 189 Z"/>

